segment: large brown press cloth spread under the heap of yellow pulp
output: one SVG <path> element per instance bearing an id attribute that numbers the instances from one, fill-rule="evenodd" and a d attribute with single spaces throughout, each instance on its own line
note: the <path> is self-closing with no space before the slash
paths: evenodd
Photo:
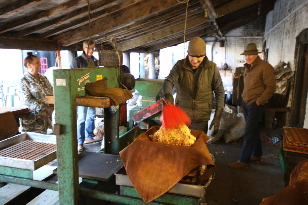
<path id="1" fill-rule="evenodd" d="M 166 193 L 194 168 L 209 165 L 202 175 L 206 179 L 215 168 L 204 132 L 192 130 L 197 141 L 188 147 L 152 142 L 149 135 L 159 128 L 153 126 L 120 152 L 128 178 L 145 203 Z"/>

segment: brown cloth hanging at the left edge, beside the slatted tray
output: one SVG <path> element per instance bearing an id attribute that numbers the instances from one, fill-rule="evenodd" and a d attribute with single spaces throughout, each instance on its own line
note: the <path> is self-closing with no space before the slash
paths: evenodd
<path id="1" fill-rule="evenodd" d="M 4 140 L 18 132 L 15 116 L 12 112 L 0 113 L 0 140 Z"/>

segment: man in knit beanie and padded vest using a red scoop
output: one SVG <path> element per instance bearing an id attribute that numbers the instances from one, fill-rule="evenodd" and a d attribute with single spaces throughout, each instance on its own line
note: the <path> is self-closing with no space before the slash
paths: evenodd
<path id="1" fill-rule="evenodd" d="M 205 133 L 211 116 L 214 91 L 216 110 L 210 125 L 210 129 L 214 125 L 214 136 L 219 128 L 225 90 L 216 64 L 209 61 L 205 54 L 205 41 L 200 37 L 193 38 L 188 45 L 188 55 L 173 66 L 164 80 L 162 90 L 167 103 L 173 104 L 172 88 L 176 85 L 175 104 L 190 117 L 192 125 L 189 128 Z"/>

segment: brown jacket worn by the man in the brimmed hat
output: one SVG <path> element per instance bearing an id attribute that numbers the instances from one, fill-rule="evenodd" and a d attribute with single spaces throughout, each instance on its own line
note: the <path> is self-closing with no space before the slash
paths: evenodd
<path id="1" fill-rule="evenodd" d="M 247 105 L 254 101 L 258 101 L 263 105 L 276 90 L 274 68 L 268 62 L 261 60 L 259 56 L 253 61 L 252 65 L 252 69 L 249 70 L 248 64 L 244 64 L 244 91 L 242 97 Z"/>

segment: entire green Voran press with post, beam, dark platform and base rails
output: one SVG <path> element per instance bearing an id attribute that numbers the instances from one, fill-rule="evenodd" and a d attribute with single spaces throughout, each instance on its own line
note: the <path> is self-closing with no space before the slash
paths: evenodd
<path id="1" fill-rule="evenodd" d="M 108 79 L 107 85 L 109 88 L 120 88 L 118 77 L 119 68 L 99 67 L 54 70 L 53 76 L 56 120 L 54 134 L 56 134 L 57 144 L 58 184 L 29 179 L 31 177 L 27 177 L 25 174 L 29 174 L 30 172 L 24 171 L 24 169 L 22 170 L 22 174 L 20 174 L 21 170 L 19 169 L 10 169 L 10 173 L 14 171 L 15 174 L 12 174 L 12 176 L 9 176 L 9 174 L 5 175 L 5 173 L 8 173 L 8 169 L 2 170 L 3 168 L 1 167 L 0 180 L 59 191 L 60 205 L 95 205 L 101 204 L 102 200 L 107 201 L 107 203 L 109 201 L 122 204 L 144 205 L 144 201 L 130 184 L 127 175 L 122 175 L 119 172 L 123 164 L 118 153 L 124 147 L 123 144 L 119 144 L 119 105 L 111 105 L 108 97 L 89 96 L 85 89 L 85 83 L 95 82 L 104 77 Z M 144 87 L 146 88 L 147 86 Z M 148 88 L 151 92 L 152 90 L 155 91 L 149 96 L 152 98 L 143 99 L 143 105 L 145 107 L 147 103 L 148 106 L 153 104 L 153 101 L 155 103 L 156 95 L 160 91 L 160 88 L 161 85 L 157 85 L 156 89 L 152 89 L 152 87 Z M 141 89 L 138 91 L 143 92 Z M 125 100 L 127 99 L 123 99 L 123 102 Z M 77 105 L 104 108 L 105 153 L 83 151 L 78 155 L 76 127 Z M 136 134 L 137 137 L 140 131 L 135 127 L 127 133 L 130 135 Z M 80 184 L 79 177 L 83 178 Z M 120 179 L 119 177 L 124 177 L 124 179 Z M 168 193 L 165 193 L 148 204 L 199 205 L 200 198 L 205 194 L 206 187 L 211 179 L 204 186 L 178 183 Z M 123 186 L 123 194 L 120 194 L 120 186 Z M 199 190 L 197 195 L 196 189 Z"/>

